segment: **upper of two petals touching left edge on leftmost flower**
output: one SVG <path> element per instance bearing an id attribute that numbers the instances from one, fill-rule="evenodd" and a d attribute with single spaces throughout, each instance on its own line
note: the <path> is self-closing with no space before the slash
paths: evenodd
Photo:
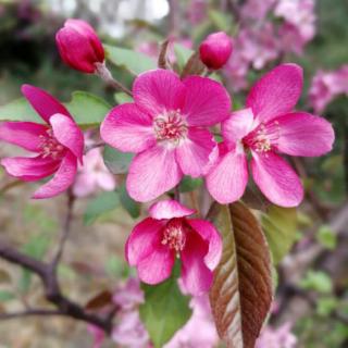
<path id="1" fill-rule="evenodd" d="M 33 122 L 3 122 L 0 124 L 0 139 L 39 152 L 42 141 L 40 136 L 46 136 L 47 129 L 47 126 Z"/>

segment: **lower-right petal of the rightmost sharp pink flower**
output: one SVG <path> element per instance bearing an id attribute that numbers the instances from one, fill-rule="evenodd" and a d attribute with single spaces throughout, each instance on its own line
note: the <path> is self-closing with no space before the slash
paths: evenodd
<path id="1" fill-rule="evenodd" d="M 303 199 L 303 187 L 299 177 L 277 154 L 253 152 L 251 171 L 262 194 L 274 204 L 297 207 Z"/>

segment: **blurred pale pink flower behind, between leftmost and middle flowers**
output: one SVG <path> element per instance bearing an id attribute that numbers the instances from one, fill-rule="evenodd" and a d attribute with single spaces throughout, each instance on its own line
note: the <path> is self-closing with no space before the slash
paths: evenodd
<path id="1" fill-rule="evenodd" d="M 77 173 L 73 191 L 77 197 L 86 197 L 98 187 L 112 191 L 116 187 L 116 182 L 104 165 L 100 149 L 96 148 L 84 156 L 84 166 Z"/>

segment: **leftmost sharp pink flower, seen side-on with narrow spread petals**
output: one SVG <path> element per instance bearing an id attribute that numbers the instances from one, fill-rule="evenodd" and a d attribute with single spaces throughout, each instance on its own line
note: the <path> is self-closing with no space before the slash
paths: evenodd
<path id="1" fill-rule="evenodd" d="M 75 178 L 77 160 L 82 163 L 84 136 L 69 111 L 46 91 L 29 85 L 22 92 L 46 124 L 3 122 L 0 139 L 36 152 L 32 158 L 4 158 L 7 172 L 25 182 L 36 182 L 54 174 L 33 198 L 57 196 L 70 187 Z"/>

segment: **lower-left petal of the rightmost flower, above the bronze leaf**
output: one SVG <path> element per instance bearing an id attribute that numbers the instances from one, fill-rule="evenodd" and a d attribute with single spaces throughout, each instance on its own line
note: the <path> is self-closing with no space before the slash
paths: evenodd
<path id="1" fill-rule="evenodd" d="M 222 154 L 206 177 L 210 195 L 221 204 L 238 200 L 248 184 L 248 163 L 241 149 Z"/>

